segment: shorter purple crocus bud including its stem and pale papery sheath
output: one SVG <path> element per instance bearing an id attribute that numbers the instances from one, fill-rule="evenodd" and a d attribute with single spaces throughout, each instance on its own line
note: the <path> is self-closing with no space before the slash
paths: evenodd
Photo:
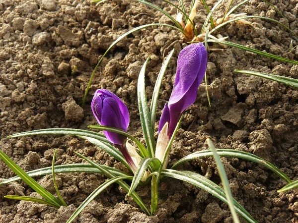
<path id="1" fill-rule="evenodd" d="M 91 109 L 100 125 L 127 131 L 129 125 L 128 109 L 114 93 L 105 89 L 98 89 L 93 96 Z M 128 165 L 135 172 L 141 159 L 133 146 L 126 142 L 127 137 L 115 132 L 103 131 L 103 133 L 120 150 Z"/>

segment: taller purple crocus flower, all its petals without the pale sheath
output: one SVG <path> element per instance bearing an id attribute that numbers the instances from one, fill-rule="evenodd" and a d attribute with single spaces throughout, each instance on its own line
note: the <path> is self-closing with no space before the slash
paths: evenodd
<path id="1" fill-rule="evenodd" d="M 206 69 L 207 51 L 202 43 L 191 44 L 180 52 L 173 91 L 163 108 L 158 132 L 168 122 L 168 137 L 172 136 L 182 113 L 195 102 Z"/>

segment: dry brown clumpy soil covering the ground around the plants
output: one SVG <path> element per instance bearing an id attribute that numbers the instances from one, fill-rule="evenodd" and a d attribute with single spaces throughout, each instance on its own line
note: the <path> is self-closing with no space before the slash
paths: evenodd
<path id="1" fill-rule="evenodd" d="M 173 16 L 176 9 L 161 0 L 153 3 Z M 228 1 L 225 1 L 225 6 Z M 270 0 L 282 18 L 267 3 L 251 0 L 238 12 L 274 18 L 298 34 L 298 0 Z M 176 2 L 177 3 L 177 2 Z M 190 1 L 185 0 L 189 6 Z M 208 0 L 210 8 L 215 1 Z M 235 4 L 235 2 L 233 3 Z M 221 16 L 225 6 L 219 7 Z M 201 3 L 195 18 L 198 30 L 206 16 Z M 291 35 L 280 26 L 259 19 L 249 26 L 228 25 L 223 36 L 235 43 L 267 53 L 298 60 L 298 48 L 291 51 Z M 171 28 L 154 27 L 138 31 L 121 41 L 103 60 L 92 83 L 87 103 L 80 108 L 84 89 L 100 56 L 126 31 L 147 23 L 170 23 L 160 13 L 129 0 L 109 0 L 100 6 L 86 0 L 0 0 L 0 149 L 24 170 L 56 164 L 81 163 L 77 151 L 100 164 L 125 167 L 99 148 L 73 136 L 6 136 L 43 128 L 87 129 L 95 124 L 89 107 L 98 88 L 116 93 L 128 106 L 129 132 L 142 139 L 137 106 L 137 77 L 147 56 L 147 93 L 151 96 L 162 59 L 175 49 L 161 86 L 157 120 L 168 100 L 176 58 L 186 46 Z M 294 41 L 294 44 L 298 42 Z M 221 48 L 221 46 L 210 46 Z M 281 168 L 291 179 L 298 177 L 298 91 L 283 84 L 234 73 L 250 69 L 298 78 L 298 66 L 227 48 L 210 51 L 208 106 L 205 85 L 196 103 L 187 111 L 177 134 L 170 163 L 195 151 L 207 149 L 208 136 L 219 148 L 231 148 L 258 155 Z M 156 125 L 157 127 L 157 125 Z M 143 141 L 144 142 L 144 141 Z M 232 194 L 258 223 L 297 223 L 298 193 L 277 193 L 285 182 L 269 170 L 239 159 L 222 159 Z M 195 160 L 181 169 L 206 173 L 216 183 L 220 178 L 212 158 Z M 14 173 L 0 162 L 0 177 Z M 36 180 L 55 194 L 50 175 Z M 76 207 L 106 178 L 78 173 L 57 174 L 57 182 L 68 207 L 59 210 L 43 204 L 4 199 L 4 195 L 38 195 L 22 181 L 0 187 L 1 223 L 64 223 Z M 149 187 L 139 187 L 149 207 Z M 159 188 L 156 216 L 147 217 L 117 185 L 110 186 L 79 215 L 74 223 L 231 223 L 228 207 L 207 192 L 173 179 Z"/>

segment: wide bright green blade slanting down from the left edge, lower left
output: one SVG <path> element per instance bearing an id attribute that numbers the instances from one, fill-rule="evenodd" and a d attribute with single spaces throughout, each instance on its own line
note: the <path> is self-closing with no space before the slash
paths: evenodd
<path id="1" fill-rule="evenodd" d="M 62 205 L 62 203 L 56 197 L 54 197 L 46 189 L 40 186 L 34 179 L 32 179 L 32 177 L 25 173 L 24 170 L 22 170 L 12 160 L 10 160 L 10 158 L 1 150 L 0 158 L 15 174 L 17 174 L 25 183 L 27 183 L 33 190 L 39 193 L 44 199 L 46 199 L 56 207 L 60 207 Z"/>

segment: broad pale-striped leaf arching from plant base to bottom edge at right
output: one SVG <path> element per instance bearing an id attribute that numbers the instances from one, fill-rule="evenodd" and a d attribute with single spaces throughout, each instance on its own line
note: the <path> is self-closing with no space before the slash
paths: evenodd
<path id="1" fill-rule="evenodd" d="M 194 172 L 190 172 L 190 171 L 178 171 L 178 170 L 173 170 L 173 169 L 163 169 L 162 175 L 191 183 L 191 184 L 207 191 L 208 193 L 212 194 L 213 196 L 219 198 L 225 204 L 228 204 L 226 196 L 224 194 L 224 190 L 221 187 L 219 187 L 217 184 L 212 182 L 211 180 L 207 179 L 206 177 L 204 177 L 198 173 L 194 173 Z M 235 199 L 233 199 L 233 203 L 235 205 L 236 212 L 240 216 L 242 216 L 242 218 L 245 219 L 246 222 L 257 223 L 251 217 L 251 215 Z"/>

